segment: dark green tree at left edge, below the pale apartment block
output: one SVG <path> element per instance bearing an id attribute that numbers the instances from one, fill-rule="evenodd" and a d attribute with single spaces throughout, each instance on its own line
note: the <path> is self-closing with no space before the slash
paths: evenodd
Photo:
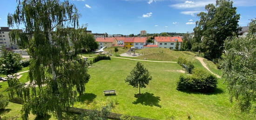
<path id="1" fill-rule="evenodd" d="M 7 51 L 2 47 L 2 55 L 0 56 L 0 74 L 13 75 L 22 69 L 20 63 L 20 54 Z"/>

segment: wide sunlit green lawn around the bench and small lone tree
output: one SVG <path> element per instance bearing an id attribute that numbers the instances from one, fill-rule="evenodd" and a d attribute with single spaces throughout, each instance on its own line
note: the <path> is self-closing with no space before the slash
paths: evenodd
<path id="1" fill-rule="evenodd" d="M 118 58 L 94 63 L 89 69 L 91 79 L 86 85 L 86 93 L 74 107 L 92 109 L 114 101 L 118 102 L 113 109 L 115 113 L 155 119 L 166 119 L 169 116 L 186 119 L 188 115 L 192 119 L 207 120 L 254 118 L 252 115 L 236 112 L 234 105 L 229 102 L 229 95 L 222 80 L 218 81 L 216 91 L 211 94 L 176 90 L 176 82 L 183 74 L 175 71 L 182 69 L 177 63 L 141 62 L 148 68 L 153 80 L 147 88 L 141 89 L 142 96 L 136 97 L 138 88 L 124 82 L 135 63 L 136 61 Z M 102 92 L 106 89 L 115 89 L 117 95 L 104 96 Z"/>

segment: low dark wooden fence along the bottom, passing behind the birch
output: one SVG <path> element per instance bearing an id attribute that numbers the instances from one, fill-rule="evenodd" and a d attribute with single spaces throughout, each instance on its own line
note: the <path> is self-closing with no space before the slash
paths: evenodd
<path id="1" fill-rule="evenodd" d="M 10 99 L 10 101 L 13 102 L 13 103 L 24 104 L 24 101 L 20 98 L 13 98 L 13 99 Z M 83 113 L 88 113 L 88 112 L 99 113 L 100 111 L 77 108 L 77 107 L 67 107 L 66 112 L 74 113 L 74 114 L 83 114 Z M 121 120 L 122 115 L 123 114 L 108 113 L 107 118 L 112 119 L 112 120 Z M 132 117 L 133 120 L 156 120 L 156 119 L 150 119 L 150 118 L 142 118 L 142 117 L 138 117 L 138 116 L 130 116 L 130 117 Z"/>

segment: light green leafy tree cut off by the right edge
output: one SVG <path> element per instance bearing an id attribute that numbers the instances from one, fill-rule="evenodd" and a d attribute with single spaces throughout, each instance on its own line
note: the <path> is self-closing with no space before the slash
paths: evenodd
<path id="1" fill-rule="evenodd" d="M 256 25 L 255 21 L 250 23 Z M 249 30 L 251 31 L 251 30 Z M 225 57 L 222 63 L 223 76 L 228 83 L 230 100 L 236 99 L 241 111 L 256 106 L 256 35 L 233 37 L 225 41 Z"/>

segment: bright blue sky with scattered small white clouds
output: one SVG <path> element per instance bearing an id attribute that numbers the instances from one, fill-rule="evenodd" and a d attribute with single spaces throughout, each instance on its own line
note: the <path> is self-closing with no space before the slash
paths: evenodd
<path id="1" fill-rule="evenodd" d="M 233 0 L 239 25 L 256 18 L 256 0 Z M 80 25 L 88 24 L 93 33 L 138 34 L 193 32 L 196 14 L 215 0 L 70 0 L 79 9 Z M 16 0 L 0 0 L 0 26 L 7 26 L 7 14 L 13 13 Z"/>

